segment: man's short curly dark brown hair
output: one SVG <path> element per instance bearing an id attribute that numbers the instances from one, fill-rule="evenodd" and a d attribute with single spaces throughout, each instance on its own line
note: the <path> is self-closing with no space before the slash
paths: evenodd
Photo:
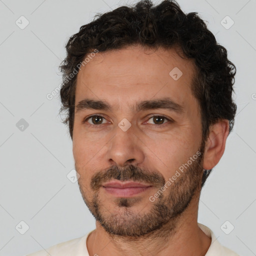
<path id="1" fill-rule="evenodd" d="M 68 124 L 71 139 L 79 63 L 93 49 L 104 52 L 131 44 L 153 49 L 179 46 L 183 51 L 180 57 L 192 58 L 195 64 L 191 90 L 200 107 L 202 139 L 207 138 L 209 126 L 219 119 L 229 120 L 230 133 L 236 112 L 232 100 L 236 68 L 227 59 L 226 49 L 216 42 L 197 12 L 185 14 L 174 0 L 163 0 L 155 6 L 150 0 L 141 0 L 134 6 L 97 13 L 69 38 L 67 55 L 60 65 L 60 112 L 67 110 L 62 122 Z M 204 172 L 202 185 L 210 171 Z"/>

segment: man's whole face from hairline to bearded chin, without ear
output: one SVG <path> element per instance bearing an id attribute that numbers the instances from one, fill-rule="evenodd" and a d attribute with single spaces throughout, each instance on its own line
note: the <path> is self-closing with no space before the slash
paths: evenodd
<path id="1" fill-rule="evenodd" d="M 199 191 L 204 141 L 193 72 L 174 49 L 140 46 L 97 53 L 78 72 L 75 168 L 82 197 L 107 232 L 157 230 Z M 92 101 L 77 107 L 84 99 L 110 109 Z"/>

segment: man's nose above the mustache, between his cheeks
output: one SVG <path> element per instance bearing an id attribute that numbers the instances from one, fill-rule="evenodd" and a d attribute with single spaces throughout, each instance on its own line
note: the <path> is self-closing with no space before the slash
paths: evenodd
<path id="1" fill-rule="evenodd" d="M 111 165 L 124 167 L 133 164 L 136 166 L 144 160 L 143 143 L 138 135 L 134 134 L 132 127 L 123 131 L 116 126 L 113 137 L 107 145 L 106 157 Z"/>

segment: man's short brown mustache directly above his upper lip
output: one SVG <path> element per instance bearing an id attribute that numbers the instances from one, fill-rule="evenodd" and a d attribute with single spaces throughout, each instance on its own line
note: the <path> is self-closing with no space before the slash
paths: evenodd
<path id="1" fill-rule="evenodd" d="M 130 164 L 125 167 L 113 165 L 107 170 L 95 173 L 91 178 L 90 187 L 92 190 L 98 190 L 103 182 L 111 179 L 145 182 L 155 187 L 162 187 L 165 184 L 165 179 L 161 173 L 143 170 Z"/>

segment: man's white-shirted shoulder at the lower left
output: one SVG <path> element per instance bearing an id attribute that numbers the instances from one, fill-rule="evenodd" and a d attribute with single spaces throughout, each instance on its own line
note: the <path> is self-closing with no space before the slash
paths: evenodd
<path id="1" fill-rule="evenodd" d="M 33 252 L 31 254 L 27 254 L 26 256 L 64 256 L 64 255 L 76 255 L 75 253 L 78 253 L 81 250 L 81 247 L 83 249 L 86 249 L 86 238 L 88 234 L 85 234 L 84 236 L 74 238 L 65 242 L 61 242 L 58 244 L 55 244 L 47 249 L 42 249 L 36 252 Z M 84 251 L 85 253 L 86 251 Z M 87 256 L 87 254 L 84 254 Z"/>

